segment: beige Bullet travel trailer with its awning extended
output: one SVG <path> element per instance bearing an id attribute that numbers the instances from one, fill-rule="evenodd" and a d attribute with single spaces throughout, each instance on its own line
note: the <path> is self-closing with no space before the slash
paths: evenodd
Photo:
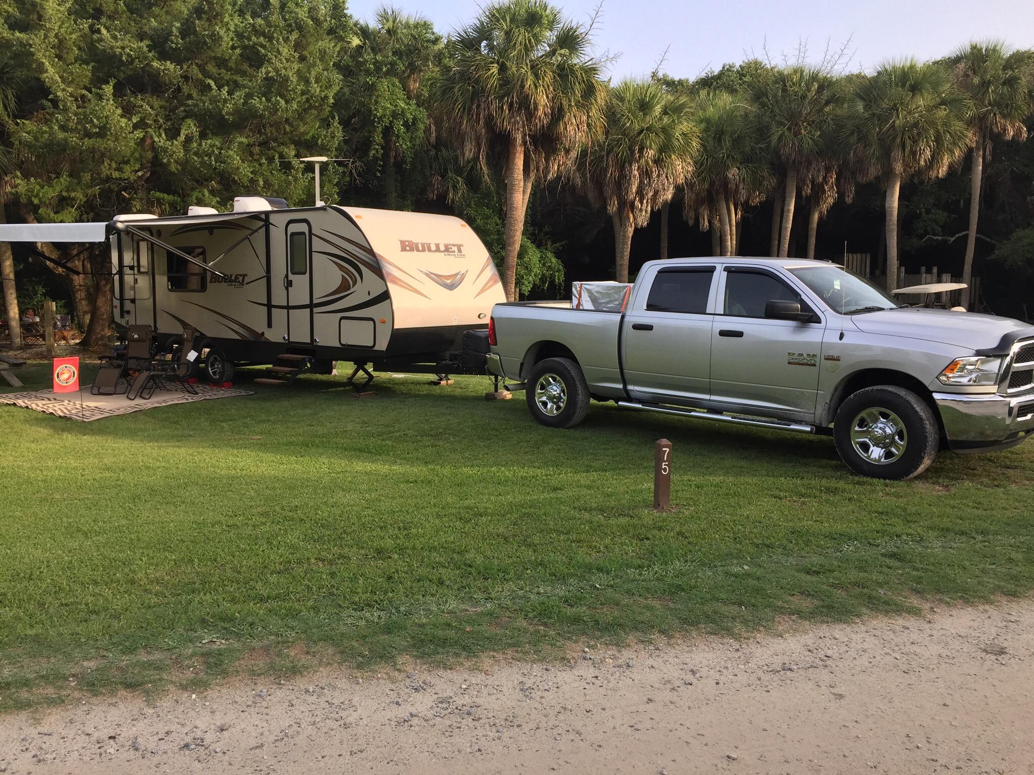
<path id="1" fill-rule="evenodd" d="M 444 378 L 461 370 L 463 332 L 506 301 L 488 250 L 448 215 L 240 196 L 227 213 L 7 224 L 0 240 L 110 243 L 116 323 L 149 324 L 164 345 L 195 329 L 218 382 L 235 364 L 291 379 L 334 361 Z"/>

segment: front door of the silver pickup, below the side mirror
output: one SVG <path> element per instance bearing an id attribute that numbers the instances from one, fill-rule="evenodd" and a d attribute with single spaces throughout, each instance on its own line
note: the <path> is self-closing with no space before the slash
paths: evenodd
<path id="1" fill-rule="evenodd" d="M 819 388 L 824 322 L 772 320 L 769 301 L 804 298 L 761 267 L 726 267 L 711 336 L 711 400 L 759 410 L 812 414 Z"/>

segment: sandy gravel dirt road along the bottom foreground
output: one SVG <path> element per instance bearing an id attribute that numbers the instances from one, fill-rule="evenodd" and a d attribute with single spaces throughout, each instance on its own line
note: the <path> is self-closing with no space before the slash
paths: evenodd
<path id="1" fill-rule="evenodd" d="M 1034 600 L 559 664 L 86 700 L 0 719 L 11 773 L 1034 774 Z"/>

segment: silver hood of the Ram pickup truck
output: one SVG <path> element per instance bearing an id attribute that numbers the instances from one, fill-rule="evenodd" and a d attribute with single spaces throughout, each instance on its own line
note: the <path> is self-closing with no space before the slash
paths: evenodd
<path id="1" fill-rule="evenodd" d="M 1011 317 L 916 307 L 863 312 L 849 317 L 866 334 L 924 339 L 970 350 L 993 349 L 1007 334 L 1030 329 L 1027 323 Z M 1031 333 L 1034 334 L 1034 330 Z"/>

